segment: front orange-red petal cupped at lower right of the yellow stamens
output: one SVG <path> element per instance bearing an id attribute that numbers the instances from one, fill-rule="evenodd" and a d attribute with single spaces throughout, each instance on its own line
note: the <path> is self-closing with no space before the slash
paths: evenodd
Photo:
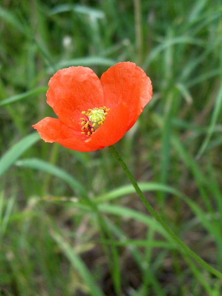
<path id="1" fill-rule="evenodd" d="M 86 142 L 90 145 L 111 146 L 118 142 L 127 132 L 130 111 L 124 102 L 112 108 L 106 120 Z"/>

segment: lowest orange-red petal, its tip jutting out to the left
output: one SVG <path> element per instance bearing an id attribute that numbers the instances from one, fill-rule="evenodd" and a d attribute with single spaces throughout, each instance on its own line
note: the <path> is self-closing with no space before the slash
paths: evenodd
<path id="1" fill-rule="evenodd" d="M 56 118 L 46 117 L 33 127 L 37 129 L 40 137 L 45 142 L 57 142 L 66 148 L 81 152 L 104 148 L 99 145 L 85 143 L 86 137 L 80 131 L 75 131 Z"/>

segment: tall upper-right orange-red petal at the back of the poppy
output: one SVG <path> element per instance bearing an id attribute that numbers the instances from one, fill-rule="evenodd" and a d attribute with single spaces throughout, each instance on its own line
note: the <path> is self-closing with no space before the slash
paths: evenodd
<path id="1" fill-rule="evenodd" d="M 101 77 L 105 106 L 112 108 L 120 100 L 130 109 L 128 130 L 137 121 L 152 97 L 152 85 L 147 74 L 134 63 L 124 62 L 112 66 Z"/>

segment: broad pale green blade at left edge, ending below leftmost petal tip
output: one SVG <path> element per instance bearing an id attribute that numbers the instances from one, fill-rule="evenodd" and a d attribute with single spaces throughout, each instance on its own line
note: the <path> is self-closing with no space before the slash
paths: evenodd
<path id="1" fill-rule="evenodd" d="M 3 156 L 0 158 L 0 176 L 4 174 L 7 169 L 13 165 L 16 160 L 32 145 L 34 145 L 40 136 L 37 132 L 32 133 L 25 138 L 23 138 L 20 142 L 15 144 L 12 148 L 10 148 Z"/>

